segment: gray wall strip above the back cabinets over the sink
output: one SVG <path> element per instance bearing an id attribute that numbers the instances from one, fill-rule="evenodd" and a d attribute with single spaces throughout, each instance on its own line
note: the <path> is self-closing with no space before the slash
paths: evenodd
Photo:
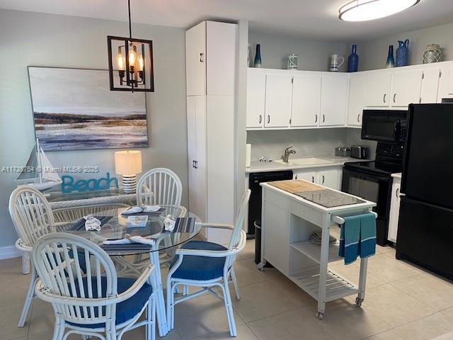
<path id="1" fill-rule="evenodd" d="M 248 45 L 250 47 L 250 64 L 253 66 L 256 44 L 261 45 L 261 60 L 263 67 L 268 69 L 286 69 L 285 57 L 291 52 L 299 55 L 299 69 L 305 71 L 328 71 L 329 57 L 333 53 L 347 59 L 349 52 L 345 42 L 326 42 L 316 40 L 304 40 L 287 35 L 273 35 L 268 32 L 253 31 L 248 33 Z M 343 63 L 340 71 L 347 67 Z"/>

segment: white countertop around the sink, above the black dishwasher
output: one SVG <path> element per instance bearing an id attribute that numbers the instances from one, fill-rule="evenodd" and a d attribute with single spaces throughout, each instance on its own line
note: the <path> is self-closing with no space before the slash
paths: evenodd
<path id="1" fill-rule="evenodd" d="M 345 162 L 360 162 L 362 159 L 355 159 L 350 157 L 336 157 L 336 156 L 309 156 L 309 157 L 300 157 L 300 158 L 328 158 L 333 159 L 333 162 L 325 164 L 304 164 L 304 165 L 295 165 L 295 164 L 280 164 L 275 161 L 273 162 L 260 162 L 258 160 L 252 161 L 251 166 L 246 168 L 246 174 L 252 172 L 265 172 L 265 171 L 285 171 L 285 170 L 295 170 L 295 169 L 311 169 L 311 168 L 325 168 L 329 166 L 341 166 Z M 294 157 L 296 158 L 296 157 Z M 298 159 L 298 158 L 297 158 Z M 276 159 L 278 160 L 278 159 Z M 291 162 L 291 158 L 289 159 Z"/>

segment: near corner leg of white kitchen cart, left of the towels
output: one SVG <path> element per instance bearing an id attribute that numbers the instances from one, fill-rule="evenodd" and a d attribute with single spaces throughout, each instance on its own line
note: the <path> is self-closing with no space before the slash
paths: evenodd
<path id="1" fill-rule="evenodd" d="M 321 236 L 321 261 L 319 263 L 319 294 L 318 294 L 318 317 L 323 319 L 326 310 L 326 284 L 328 266 L 328 243 L 329 229 L 331 227 L 331 215 L 323 215 L 323 226 Z"/>

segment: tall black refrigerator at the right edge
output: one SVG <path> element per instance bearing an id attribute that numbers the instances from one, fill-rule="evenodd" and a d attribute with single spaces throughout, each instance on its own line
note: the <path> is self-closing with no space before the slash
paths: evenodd
<path id="1" fill-rule="evenodd" d="M 408 111 L 396 258 L 453 279 L 453 103 Z"/>

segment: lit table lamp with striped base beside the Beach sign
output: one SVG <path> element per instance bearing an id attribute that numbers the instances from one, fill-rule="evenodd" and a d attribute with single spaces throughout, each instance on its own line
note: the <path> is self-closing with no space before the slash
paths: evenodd
<path id="1" fill-rule="evenodd" d="M 137 174 L 142 172 L 142 152 L 135 150 L 115 152 L 115 172 L 122 175 L 125 193 L 135 193 Z"/>

